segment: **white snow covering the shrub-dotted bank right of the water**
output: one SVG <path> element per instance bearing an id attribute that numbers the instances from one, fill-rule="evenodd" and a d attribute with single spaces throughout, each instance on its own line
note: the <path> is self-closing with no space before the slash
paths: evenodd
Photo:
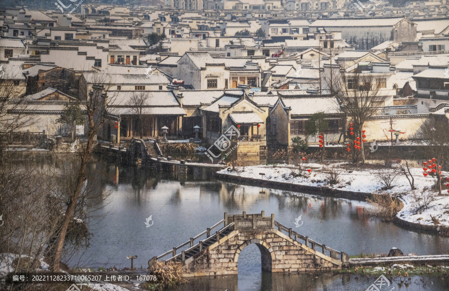
<path id="1" fill-rule="evenodd" d="M 439 225 L 449 226 L 449 196 L 437 196 L 437 192 L 430 192 L 429 189 L 435 184 L 436 178 L 430 176 L 424 177 L 422 168 L 410 169 L 415 178 L 415 187 L 417 188 L 417 190 L 412 191 L 409 181 L 403 174 L 396 177 L 392 189 L 384 189 L 385 186 L 380 182 L 377 173 L 380 171 L 393 172 L 394 169 L 392 168 L 357 169 L 356 166 L 346 162 L 331 165 L 303 163 L 301 167 L 303 169 L 303 176 L 295 176 L 299 173 L 299 170 L 296 166 L 290 164 L 245 166 L 243 168 L 237 167 L 237 170 L 234 171 L 228 167 L 218 173 L 299 185 L 328 187 L 352 192 L 388 193 L 392 196 L 399 197 L 404 203 L 404 208 L 397 214 L 399 218 L 413 223 L 435 225 L 432 221 L 432 217 L 434 217 L 439 219 Z M 327 182 L 326 171 L 332 167 L 340 171 L 340 181 L 335 185 L 329 185 Z M 312 170 L 310 174 L 306 171 L 309 168 Z M 260 173 L 264 173 L 263 178 Z M 449 176 L 449 173 L 443 171 L 442 176 L 445 179 L 445 177 Z M 429 195 L 428 193 L 432 193 L 433 195 Z M 447 194 L 445 186 L 443 186 L 442 193 Z M 420 205 L 429 198 L 435 200 L 430 202 L 428 207 L 419 209 Z"/>

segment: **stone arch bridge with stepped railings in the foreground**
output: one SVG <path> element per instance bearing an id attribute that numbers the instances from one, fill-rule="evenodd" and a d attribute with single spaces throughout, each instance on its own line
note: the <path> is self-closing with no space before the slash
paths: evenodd
<path id="1" fill-rule="evenodd" d="M 222 223 L 225 223 L 224 227 L 211 232 Z M 205 239 L 195 243 L 204 235 Z M 249 244 L 259 248 L 262 271 L 267 272 L 341 269 L 343 263 L 349 260 L 347 254 L 310 240 L 274 221 L 274 214 L 264 217 L 262 211 L 261 214 L 225 213 L 225 218 L 213 227 L 173 250 L 153 257 L 148 265 L 151 267 L 157 260 L 170 255 L 166 261 L 182 264 L 185 277 L 237 274 L 238 256 Z"/>

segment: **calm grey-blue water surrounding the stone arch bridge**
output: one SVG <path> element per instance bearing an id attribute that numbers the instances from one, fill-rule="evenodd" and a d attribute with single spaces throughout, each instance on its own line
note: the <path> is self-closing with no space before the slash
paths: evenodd
<path id="1" fill-rule="evenodd" d="M 304 193 L 239 185 L 217 180 L 176 181 L 163 173 L 138 167 L 117 167 L 106 162 L 90 166 L 91 180 L 104 183 L 103 207 L 89 227 L 94 233 L 90 247 L 69 261 L 71 267 L 130 267 L 127 256 L 137 255 L 134 266 L 148 267 L 148 260 L 188 241 L 228 214 L 274 213 L 275 220 L 304 236 L 350 256 L 386 253 L 392 247 L 404 254 L 447 254 L 449 238 L 408 231 L 370 218 L 371 205 Z M 101 178 L 98 173 L 102 174 Z M 102 198 L 103 197 L 103 198 Z M 152 216 L 153 224 L 145 221 Z M 295 228 L 302 215 L 303 225 Z M 168 258 L 168 257 L 167 257 Z M 178 290 L 271 291 L 271 290 L 366 290 L 376 278 L 356 275 L 283 275 L 261 272 L 260 252 L 254 245 L 243 249 L 238 276 L 200 278 Z M 399 281 L 399 283 L 401 283 Z M 395 290 L 441 290 L 448 281 L 414 277 Z M 449 289 L 448 289 L 449 290 Z"/>

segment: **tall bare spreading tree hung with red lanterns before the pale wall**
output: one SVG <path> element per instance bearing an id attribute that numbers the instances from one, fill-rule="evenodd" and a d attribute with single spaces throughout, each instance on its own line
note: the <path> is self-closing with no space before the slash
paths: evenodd
<path id="1" fill-rule="evenodd" d="M 383 106 L 384 96 L 379 93 L 380 84 L 377 84 L 371 73 L 364 73 L 358 68 L 350 73 L 341 75 L 335 80 L 333 89 L 335 97 L 342 106 L 348 118 L 354 123 L 354 132 L 362 139 L 362 130 L 365 122 L 379 111 Z M 361 162 L 365 163 L 363 143 L 361 144 Z"/>

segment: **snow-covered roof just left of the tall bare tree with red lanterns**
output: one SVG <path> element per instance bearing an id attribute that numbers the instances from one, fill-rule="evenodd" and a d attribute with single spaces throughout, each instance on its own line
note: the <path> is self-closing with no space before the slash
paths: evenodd
<path id="1" fill-rule="evenodd" d="M 291 115 L 312 115 L 317 112 L 341 113 L 335 97 L 282 98 L 282 102 L 291 108 Z"/>

